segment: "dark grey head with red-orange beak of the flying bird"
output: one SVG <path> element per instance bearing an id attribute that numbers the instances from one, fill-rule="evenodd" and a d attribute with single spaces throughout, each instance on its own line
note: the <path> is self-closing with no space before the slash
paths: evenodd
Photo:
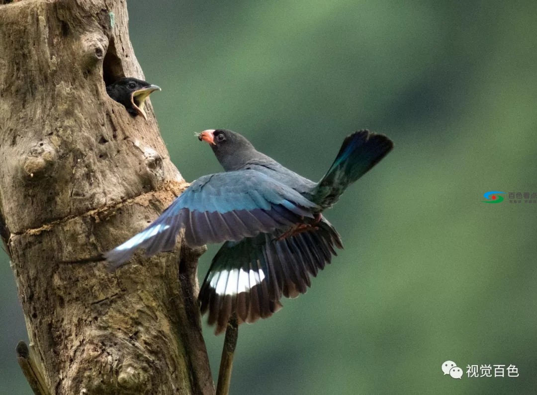
<path id="1" fill-rule="evenodd" d="M 240 169 L 257 151 L 246 137 L 226 129 L 208 129 L 198 134 L 199 141 L 209 143 L 224 170 Z"/>

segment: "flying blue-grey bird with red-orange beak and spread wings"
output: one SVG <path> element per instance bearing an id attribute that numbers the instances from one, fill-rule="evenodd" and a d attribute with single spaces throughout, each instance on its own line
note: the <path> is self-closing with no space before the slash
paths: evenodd
<path id="1" fill-rule="evenodd" d="M 106 252 L 112 267 L 137 250 L 150 256 L 172 250 L 179 231 L 189 246 L 224 242 L 213 258 L 199 294 L 202 313 L 226 329 L 231 313 L 239 323 L 267 318 L 280 299 L 296 297 L 329 264 L 338 232 L 322 215 L 345 188 L 393 148 L 391 140 L 367 130 L 346 137 L 330 169 L 319 182 L 286 169 L 230 130 L 205 130 L 225 172 L 192 182 L 157 220 L 125 243 Z"/>

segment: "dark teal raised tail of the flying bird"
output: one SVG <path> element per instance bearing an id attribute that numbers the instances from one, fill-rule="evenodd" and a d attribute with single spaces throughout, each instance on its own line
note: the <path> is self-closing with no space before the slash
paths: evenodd
<path id="1" fill-rule="evenodd" d="M 394 143 L 382 134 L 368 130 L 356 131 L 343 141 L 336 160 L 319 181 L 312 201 L 323 209 L 332 206 L 345 189 L 394 148 Z"/>

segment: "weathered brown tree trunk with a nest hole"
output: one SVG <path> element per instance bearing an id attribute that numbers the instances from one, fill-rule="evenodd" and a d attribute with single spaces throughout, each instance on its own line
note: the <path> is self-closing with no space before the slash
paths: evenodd
<path id="1" fill-rule="evenodd" d="M 124 242 L 187 185 L 150 104 L 146 121 L 106 94 L 143 79 L 127 21 L 123 0 L 0 6 L 0 234 L 44 393 L 214 393 L 201 250 L 60 263 Z"/>

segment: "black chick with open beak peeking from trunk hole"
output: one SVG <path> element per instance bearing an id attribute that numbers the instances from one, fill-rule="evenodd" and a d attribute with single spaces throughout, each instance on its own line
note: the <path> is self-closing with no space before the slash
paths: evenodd
<path id="1" fill-rule="evenodd" d="M 147 119 L 144 111 L 146 99 L 151 93 L 160 90 L 157 85 L 132 77 L 121 78 L 106 87 L 108 96 L 124 105 L 130 115 L 141 115 L 143 119 Z"/>

